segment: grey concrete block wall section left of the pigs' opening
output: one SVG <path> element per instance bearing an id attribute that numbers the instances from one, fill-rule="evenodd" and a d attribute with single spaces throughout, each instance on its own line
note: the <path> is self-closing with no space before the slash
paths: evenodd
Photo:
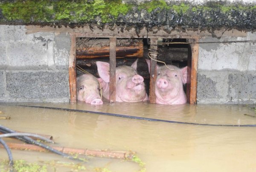
<path id="1" fill-rule="evenodd" d="M 0 25 L 0 102 L 69 102 L 68 33 Z"/>

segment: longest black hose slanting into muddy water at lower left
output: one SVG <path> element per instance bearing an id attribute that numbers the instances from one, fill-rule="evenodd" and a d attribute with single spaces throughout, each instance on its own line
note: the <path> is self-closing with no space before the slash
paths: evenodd
<path id="1" fill-rule="evenodd" d="M 7 128 L 7 127 L 1 126 L 1 125 L 0 125 L 0 129 L 5 130 L 6 132 L 12 132 L 12 133 L 15 132 L 15 131 L 13 131 L 13 130 Z M 36 141 L 36 140 L 33 140 L 32 138 L 29 138 L 29 137 L 27 137 L 27 136 L 22 136 L 21 138 L 23 138 L 24 140 L 26 140 L 26 143 L 30 143 L 30 144 L 34 144 L 34 145 L 37 145 L 37 146 L 41 146 L 41 147 L 43 147 L 44 149 L 47 149 L 47 150 L 49 150 L 50 152 L 53 152 L 53 153 L 55 153 L 55 154 L 57 154 L 57 155 L 61 155 L 61 156 L 65 157 L 65 158 L 69 158 L 69 159 L 72 159 L 72 160 L 81 161 L 81 159 L 79 159 L 79 158 L 74 158 L 74 157 L 72 157 L 72 156 L 70 156 L 70 155 L 68 155 L 68 154 L 66 154 L 66 153 L 60 152 L 60 151 L 58 151 L 58 150 L 56 150 L 56 149 L 53 149 L 52 147 L 47 146 L 47 145 L 45 145 L 45 144 L 43 144 L 43 143 L 40 143 L 40 142 L 38 142 L 38 141 Z"/>

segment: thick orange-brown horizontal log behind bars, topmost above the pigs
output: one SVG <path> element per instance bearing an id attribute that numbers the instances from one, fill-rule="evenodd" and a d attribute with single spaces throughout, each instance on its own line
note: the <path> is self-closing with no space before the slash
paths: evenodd
<path id="1" fill-rule="evenodd" d="M 82 43 L 76 46 L 76 59 L 109 57 L 109 39 L 87 38 L 79 39 L 77 42 Z M 143 57 L 143 40 L 117 39 L 116 57 Z"/>

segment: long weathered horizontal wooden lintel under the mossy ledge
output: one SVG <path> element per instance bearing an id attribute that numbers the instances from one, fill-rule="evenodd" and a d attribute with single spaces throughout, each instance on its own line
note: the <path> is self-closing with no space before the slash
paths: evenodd
<path id="1" fill-rule="evenodd" d="M 156 26 L 152 29 L 147 27 L 141 28 L 139 31 L 129 26 L 107 26 L 99 28 L 97 25 L 85 25 L 83 27 L 70 28 L 66 26 L 52 27 L 52 26 L 25 26 L 26 34 L 33 34 L 36 32 L 64 32 L 64 33 L 76 33 L 76 37 L 118 37 L 118 38 L 193 38 L 193 37 L 204 37 L 212 36 L 212 33 L 201 29 L 187 29 L 186 32 L 180 32 L 178 29 L 166 30 L 165 26 Z M 246 37 L 247 31 L 240 31 L 237 29 L 219 29 L 215 31 L 216 36 L 235 36 L 235 37 Z"/>

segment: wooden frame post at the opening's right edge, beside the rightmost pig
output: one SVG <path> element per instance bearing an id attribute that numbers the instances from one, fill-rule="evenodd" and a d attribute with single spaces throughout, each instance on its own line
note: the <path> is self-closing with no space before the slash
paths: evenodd
<path id="1" fill-rule="evenodd" d="M 188 77 L 186 86 L 187 100 L 190 104 L 196 103 L 197 94 L 197 71 L 198 71 L 198 38 L 188 39 L 189 50 L 188 50 Z"/>

